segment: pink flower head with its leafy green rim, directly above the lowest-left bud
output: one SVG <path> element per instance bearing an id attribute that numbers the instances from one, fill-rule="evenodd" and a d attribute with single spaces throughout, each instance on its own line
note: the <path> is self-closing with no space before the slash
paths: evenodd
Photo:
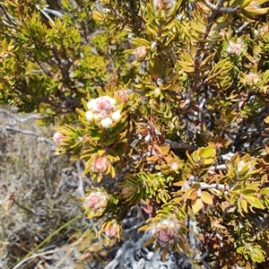
<path id="1" fill-rule="evenodd" d="M 89 218 L 100 216 L 108 206 L 108 198 L 108 193 L 100 187 L 87 190 L 87 195 L 82 198 L 85 214 Z"/>

